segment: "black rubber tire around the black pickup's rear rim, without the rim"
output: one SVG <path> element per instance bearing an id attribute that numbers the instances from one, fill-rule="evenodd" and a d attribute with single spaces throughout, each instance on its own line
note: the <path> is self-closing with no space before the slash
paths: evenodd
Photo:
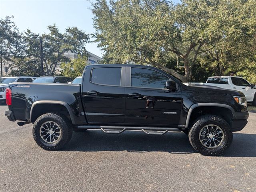
<path id="1" fill-rule="evenodd" d="M 59 125 L 62 132 L 59 140 L 55 143 L 47 143 L 40 136 L 40 127 L 47 121 L 55 122 Z M 72 127 L 70 120 L 62 114 L 46 113 L 37 118 L 33 126 L 33 137 L 36 144 L 44 150 L 58 150 L 65 146 L 72 137 Z"/>

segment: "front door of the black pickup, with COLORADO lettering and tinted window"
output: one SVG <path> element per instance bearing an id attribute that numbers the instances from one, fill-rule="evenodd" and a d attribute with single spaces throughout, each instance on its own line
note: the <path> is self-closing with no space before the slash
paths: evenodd
<path id="1" fill-rule="evenodd" d="M 148 126 L 177 126 L 181 92 L 165 88 L 169 77 L 152 68 L 126 67 L 125 123 Z M 177 84 L 178 86 L 178 84 Z"/>

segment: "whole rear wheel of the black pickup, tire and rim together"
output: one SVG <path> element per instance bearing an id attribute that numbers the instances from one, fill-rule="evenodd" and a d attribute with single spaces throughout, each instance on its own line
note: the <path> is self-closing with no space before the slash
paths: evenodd
<path id="1" fill-rule="evenodd" d="M 71 139 L 72 124 L 61 114 L 43 114 L 34 122 L 33 136 L 41 148 L 58 150 Z"/>

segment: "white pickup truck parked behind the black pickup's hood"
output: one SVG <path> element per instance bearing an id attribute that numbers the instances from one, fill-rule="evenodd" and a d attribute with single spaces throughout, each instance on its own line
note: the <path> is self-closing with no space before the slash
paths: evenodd
<path id="1" fill-rule="evenodd" d="M 242 77 L 235 76 L 213 76 L 208 77 L 206 83 L 184 83 L 188 86 L 215 86 L 224 89 L 243 92 L 248 102 L 256 106 L 256 87 Z"/>

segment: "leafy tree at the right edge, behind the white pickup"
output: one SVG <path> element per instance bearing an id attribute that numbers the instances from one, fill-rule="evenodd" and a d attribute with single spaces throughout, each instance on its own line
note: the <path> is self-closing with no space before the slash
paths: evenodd
<path id="1" fill-rule="evenodd" d="M 228 23 L 224 26 L 224 37 L 200 58 L 202 63 L 214 69 L 214 75 L 249 69 L 256 61 L 256 2 L 232 1 L 221 8 L 223 20 Z"/>

